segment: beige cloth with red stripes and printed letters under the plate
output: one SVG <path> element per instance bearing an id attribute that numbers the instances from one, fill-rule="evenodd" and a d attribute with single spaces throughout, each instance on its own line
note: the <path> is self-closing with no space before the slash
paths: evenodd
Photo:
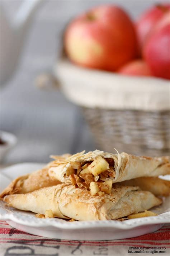
<path id="1" fill-rule="evenodd" d="M 23 231 L 11 228 L 5 221 L 0 221 L 0 255 L 134 255 L 128 250 L 139 251 L 135 255 L 141 255 L 144 250 L 158 251 L 158 253 L 170 253 L 170 224 L 165 224 L 160 230 L 136 238 L 110 240 L 110 241 L 76 241 L 38 237 Z M 138 247 L 139 249 L 130 249 Z M 154 248 L 151 248 L 154 247 Z M 149 254 L 150 255 L 150 254 Z"/>

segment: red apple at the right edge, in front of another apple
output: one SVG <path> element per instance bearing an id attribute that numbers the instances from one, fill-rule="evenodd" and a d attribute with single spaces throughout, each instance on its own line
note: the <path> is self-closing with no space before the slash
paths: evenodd
<path id="1" fill-rule="evenodd" d="M 155 76 L 170 79 L 170 23 L 149 37 L 143 56 Z"/>

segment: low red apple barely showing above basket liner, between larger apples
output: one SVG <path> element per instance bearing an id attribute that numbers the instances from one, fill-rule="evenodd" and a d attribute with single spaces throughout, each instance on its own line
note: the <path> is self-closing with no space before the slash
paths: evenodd
<path id="1" fill-rule="evenodd" d="M 152 76 L 152 72 L 145 61 L 136 59 L 121 67 L 118 72 L 130 76 Z"/>

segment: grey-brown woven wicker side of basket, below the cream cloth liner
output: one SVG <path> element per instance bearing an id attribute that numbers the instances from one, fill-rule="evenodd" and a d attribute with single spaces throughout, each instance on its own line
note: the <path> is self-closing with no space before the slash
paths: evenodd
<path id="1" fill-rule="evenodd" d="M 136 155 L 168 155 L 170 111 L 83 108 L 99 149 Z"/>

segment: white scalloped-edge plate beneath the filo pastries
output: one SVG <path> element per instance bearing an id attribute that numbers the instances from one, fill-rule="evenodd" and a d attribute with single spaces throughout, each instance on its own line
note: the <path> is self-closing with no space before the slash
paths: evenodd
<path id="1" fill-rule="evenodd" d="M 42 167 L 42 164 L 37 164 L 37 163 L 22 163 L 22 164 L 15 164 L 13 166 L 10 167 L 6 167 L 2 170 L 1 175 L 5 178 L 7 178 L 7 180 L 12 179 L 12 177 L 9 177 L 11 170 L 13 169 L 17 169 L 19 170 L 19 167 L 23 169 L 23 167 L 27 167 L 26 169 L 31 168 L 32 170 L 34 170 L 33 167 L 37 168 Z M 26 171 L 25 171 L 26 172 Z M 27 171 L 28 172 L 28 171 Z M 24 173 L 23 173 L 24 174 Z M 17 174 L 18 175 L 18 174 Z M 16 175 L 16 176 L 17 176 Z M 11 176 L 14 176 L 14 173 L 11 174 Z M 3 202 L 1 202 L 1 204 L 3 204 Z M 8 208 L 4 208 L 4 207 L 0 207 L 3 211 L 0 212 L 2 214 L 0 214 L 0 220 L 5 220 L 5 221 L 12 221 L 15 222 L 15 224 L 18 225 L 22 225 L 25 227 L 29 227 L 29 228 L 50 228 L 53 227 L 56 229 L 56 232 L 58 230 L 58 232 L 61 232 L 61 230 L 63 230 L 62 233 L 66 234 L 66 231 L 69 232 L 69 230 L 77 230 L 77 231 L 83 231 L 83 230 L 98 230 L 101 228 L 104 228 L 103 232 L 104 234 L 107 234 L 108 230 L 112 230 L 113 232 L 115 230 L 123 232 L 123 230 L 135 230 L 135 229 L 142 229 L 143 226 L 153 226 L 153 225 L 159 225 L 162 224 L 164 225 L 165 223 L 170 223 L 170 212 L 164 212 L 162 214 L 160 214 L 159 216 L 153 216 L 153 217 L 145 217 L 145 218 L 138 218 L 138 219 L 132 219 L 132 220 L 126 220 L 126 221 L 115 221 L 115 220 L 104 220 L 104 221 L 75 221 L 75 222 L 66 222 L 65 220 L 61 220 L 61 219 L 38 219 L 36 217 L 33 216 L 33 213 L 30 213 L 30 215 L 24 215 L 24 211 L 23 213 L 21 212 L 13 212 L 12 208 L 10 209 L 10 213 L 8 212 Z M 6 211 L 7 213 L 5 213 L 4 211 Z M 155 226 L 156 227 L 156 226 Z M 45 231 L 47 231 L 46 229 L 44 229 Z M 48 232 L 48 231 L 47 231 Z M 138 231 L 138 235 L 140 235 L 141 231 Z M 146 233 L 150 233 L 150 231 L 146 231 Z M 40 236 L 42 236 L 42 234 L 39 234 Z M 59 235 L 60 236 L 60 235 Z M 67 236 L 67 235 L 65 235 Z M 113 235 L 116 237 L 116 235 Z M 122 233 L 123 236 L 123 233 Z M 133 237 L 133 235 L 132 235 Z M 83 237 L 84 238 L 84 237 Z M 116 239 L 116 238 L 113 238 Z M 119 238 L 120 239 L 120 238 Z M 82 239 L 80 239 L 82 240 Z M 86 240 L 86 239 L 85 239 Z M 100 238 L 98 238 L 97 240 L 101 240 Z M 109 240 L 109 239 L 107 239 Z"/>

